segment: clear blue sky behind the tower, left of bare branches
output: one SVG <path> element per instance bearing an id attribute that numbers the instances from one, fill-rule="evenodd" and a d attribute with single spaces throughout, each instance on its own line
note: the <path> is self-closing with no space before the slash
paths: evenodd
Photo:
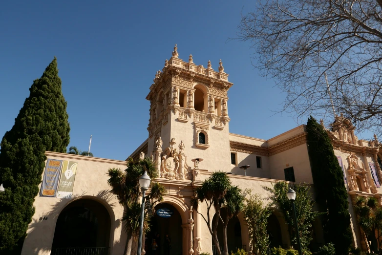
<path id="1" fill-rule="evenodd" d="M 147 137 L 146 95 L 155 72 L 179 57 L 217 70 L 229 90 L 230 132 L 269 139 L 297 126 L 273 115 L 284 95 L 251 64 L 249 43 L 235 37 L 241 11 L 255 1 L 3 1 L 0 4 L 0 137 L 9 130 L 33 80 L 57 57 L 67 101 L 70 145 L 125 160 Z M 306 122 L 306 120 L 304 120 Z M 329 120 L 326 120 L 327 124 Z M 369 139 L 370 134 L 365 137 Z M 360 137 L 361 138 L 361 137 Z"/>

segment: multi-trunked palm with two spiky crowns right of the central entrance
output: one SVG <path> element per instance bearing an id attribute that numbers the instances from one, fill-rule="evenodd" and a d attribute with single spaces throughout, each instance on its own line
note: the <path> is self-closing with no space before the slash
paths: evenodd
<path id="1" fill-rule="evenodd" d="M 217 225 L 219 220 L 225 225 L 228 224 L 230 218 L 234 215 L 237 215 L 242 209 L 241 204 L 238 202 L 240 200 L 238 193 L 240 189 L 237 186 L 232 186 L 230 178 L 227 173 L 222 171 L 213 172 L 212 175 L 203 181 L 202 186 L 195 190 L 195 198 L 191 200 L 193 209 L 199 213 L 204 221 L 207 223 L 207 227 L 211 233 L 212 240 L 216 246 L 218 255 L 221 255 L 221 250 L 219 246 L 219 240 L 217 239 Z M 244 200 L 244 198 L 243 198 Z M 198 212 L 199 203 L 205 202 L 207 204 L 207 218 L 200 212 Z M 242 201 L 243 202 L 243 201 Z M 214 207 L 215 214 L 210 218 L 210 209 Z M 227 206 L 229 215 L 228 219 L 224 222 L 221 218 L 220 212 L 221 209 Z M 231 210 L 232 209 L 232 210 Z M 237 212 L 236 212 L 237 211 Z M 227 226 L 225 225 L 225 232 L 227 231 Z M 228 255 L 228 246 L 227 246 L 227 235 L 225 235 L 224 243 L 224 254 Z"/>

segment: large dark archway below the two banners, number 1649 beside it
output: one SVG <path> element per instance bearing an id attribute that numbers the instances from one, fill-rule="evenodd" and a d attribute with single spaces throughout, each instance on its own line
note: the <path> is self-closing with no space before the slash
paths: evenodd
<path id="1" fill-rule="evenodd" d="M 51 254 L 107 255 L 110 224 L 110 215 L 99 202 L 79 199 L 70 203 L 57 219 Z"/>

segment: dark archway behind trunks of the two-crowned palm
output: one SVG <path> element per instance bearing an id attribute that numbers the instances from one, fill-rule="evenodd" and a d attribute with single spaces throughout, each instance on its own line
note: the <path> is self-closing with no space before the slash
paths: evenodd
<path id="1" fill-rule="evenodd" d="M 220 215 L 222 219 L 226 218 L 226 212 L 225 210 L 221 210 Z M 213 216 L 215 217 L 215 216 Z M 223 252 L 223 223 L 219 221 L 217 225 L 217 240 L 219 241 L 219 246 L 221 251 Z M 212 241 L 212 252 L 213 254 L 217 254 L 216 250 L 214 249 L 215 244 Z M 228 253 L 231 254 L 231 251 L 235 253 L 237 249 L 245 249 L 246 247 L 243 247 L 242 240 L 241 240 L 241 226 L 239 218 L 234 217 L 228 221 L 227 225 L 227 246 L 228 246 Z"/>

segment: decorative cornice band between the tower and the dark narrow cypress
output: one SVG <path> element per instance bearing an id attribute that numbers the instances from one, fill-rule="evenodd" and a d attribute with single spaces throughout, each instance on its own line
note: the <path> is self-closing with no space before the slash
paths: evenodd
<path id="1" fill-rule="evenodd" d="M 232 151 L 262 155 L 262 156 L 272 156 L 282 151 L 295 148 L 305 143 L 306 143 L 306 133 L 303 132 L 289 139 L 281 141 L 275 145 L 272 145 L 270 147 L 250 145 L 250 144 L 234 142 L 234 141 L 230 141 L 230 147 Z"/>

